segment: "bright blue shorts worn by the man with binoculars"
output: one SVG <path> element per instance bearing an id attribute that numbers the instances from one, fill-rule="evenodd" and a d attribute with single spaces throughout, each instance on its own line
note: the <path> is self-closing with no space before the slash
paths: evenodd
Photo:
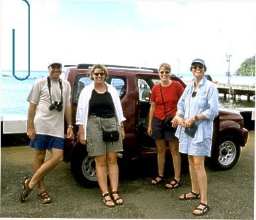
<path id="1" fill-rule="evenodd" d="M 64 150 L 64 138 L 36 134 L 36 138 L 30 142 L 29 146 L 36 150 L 51 150 L 52 148 Z"/>

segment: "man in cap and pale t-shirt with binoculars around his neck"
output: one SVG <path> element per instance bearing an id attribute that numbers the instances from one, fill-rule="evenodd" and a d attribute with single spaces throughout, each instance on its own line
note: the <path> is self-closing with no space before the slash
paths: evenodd
<path id="1" fill-rule="evenodd" d="M 63 160 L 64 115 L 68 125 L 67 138 L 73 136 L 70 84 L 60 78 L 62 63 L 50 63 L 48 70 L 49 76 L 37 80 L 26 99 L 30 103 L 27 135 L 35 157 L 34 175 L 24 177 L 22 182 L 21 202 L 26 200 L 36 184 L 38 201 L 42 204 L 52 202 L 43 180 Z M 51 152 L 51 157 L 45 161 L 47 150 Z"/>

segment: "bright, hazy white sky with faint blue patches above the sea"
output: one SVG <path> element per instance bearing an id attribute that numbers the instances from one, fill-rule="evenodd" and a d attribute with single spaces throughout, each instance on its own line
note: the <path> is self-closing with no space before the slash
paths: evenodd
<path id="1" fill-rule="evenodd" d="M 101 63 L 189 73 L 234 74 L 255 55 L 255 1 L 0 0 L 1 70 L 47 70 L 48 63 Z M 29 11 L 28 11 L 29 9 Z M 28 12 L 30 43 L 28 43 Z M 227 55 L 230 62 L 227 61 Z"/>

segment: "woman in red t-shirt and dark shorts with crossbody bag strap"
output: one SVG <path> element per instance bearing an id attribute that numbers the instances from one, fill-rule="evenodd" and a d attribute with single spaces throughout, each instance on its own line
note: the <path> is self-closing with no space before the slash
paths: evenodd
<path id="1" fill-rule="evenodd" d="M 165 188 L 173 189 L 181 185 L 181 156 L 179 153 L 179 140 L 175 136 L 176 128 L 166 126 L 165 120 L 167 115 L 175 116 L 177 103 L 183 94 L 184 88 L 179 82 L 171 80 L 170 74 L 171 66 L 167 63 L 162 63 L 159 67 L 161 82 L 153 86 L 150 97 L 148 134 L 155 139 L 157 146 L 158 176 L 151 180 L 151 184 L 157 185 L 164 180 L 166 141 L 168 141 L 173 157 L 175 175 L 173 180 L 165 184 Z"/>

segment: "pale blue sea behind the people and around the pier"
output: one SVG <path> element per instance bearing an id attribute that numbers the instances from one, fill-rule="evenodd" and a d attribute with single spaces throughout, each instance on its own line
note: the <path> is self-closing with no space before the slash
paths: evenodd
<path id="1" fill-rule="evenodd" d="M 1 71 L 1 120 L 4 117 L 17 117 L 26 116 L 28 113 L 28 102 L 26 97 L 30 92 L 32 85 L 38 78 L 48 76 L 48 71 L 30 71 L 30 76 L 26 80 L 17 80 L 11 70 Z M 18 78 L 25 78 L 27 76 L 26 71 L 17 71 L 15 75 Z M 221 75 L 211 75 L 213 81 L 219 83 L 227 83 L 228 77 Z M 179 77 L 184 82 L 188 82 L 192 79 L 192 74 L 179 74 Z M 255 84 L 255 77 L 251 76 L 232 76 L 230 80 L 231 84 L 245 84 L 252 86 Z M 255 99 L 251 97 L 250 101 L 247 101 L 246 96 L 237 97 L 235 100 L 228 97 L 226 100 L 220 94 L 219 106 L 221 108 L 235 109 L 239 107 L 255 107 Z"/>

